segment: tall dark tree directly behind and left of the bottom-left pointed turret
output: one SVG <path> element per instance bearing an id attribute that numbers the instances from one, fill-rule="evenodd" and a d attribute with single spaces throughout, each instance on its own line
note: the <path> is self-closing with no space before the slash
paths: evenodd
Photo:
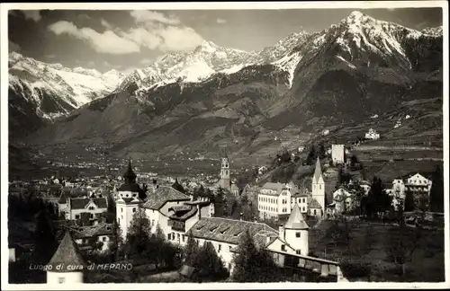
<path id="1" fill-rule="evenodd" d="M 49 214 L 42 210 L 36 217 L 32 261 L 36 264 L 47 265 L 57 248 L 56 233 L 51 225 Z"/>

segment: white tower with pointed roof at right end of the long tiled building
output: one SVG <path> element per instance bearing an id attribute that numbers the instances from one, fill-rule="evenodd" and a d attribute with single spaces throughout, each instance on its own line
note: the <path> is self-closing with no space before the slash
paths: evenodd
<path id="1" fill-rule="evenodd" d="M 307 256 L 310 251 L 309 228 L 299 205 L 295 203 L 286 225 L 280 227 L 280 236 L 297 254 Z"/>

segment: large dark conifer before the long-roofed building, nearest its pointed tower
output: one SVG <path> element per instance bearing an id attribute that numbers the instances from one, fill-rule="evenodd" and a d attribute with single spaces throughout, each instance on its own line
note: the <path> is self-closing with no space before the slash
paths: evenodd
<path id="1" fill-rule="evenodd" d="M 268 282 L 273 279 L 276 269 L 272 257 L 266 251 L 257 249 L 248 229 L 238 244 L 233 263 L 231 278 L 236 282 Z"/>

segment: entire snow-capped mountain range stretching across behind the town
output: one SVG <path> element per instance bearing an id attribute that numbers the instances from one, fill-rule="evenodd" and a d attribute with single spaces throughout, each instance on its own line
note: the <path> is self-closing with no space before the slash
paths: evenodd
<path id="1" fill-rule="evenodd" d="M 442 64 L 442 27 L 416 31 L 359 12 L 259 52 L 203 41 L 130 75 L 11 53 L 10 137 L 30 128 L 28 143 L 109 145 L 122 157 L 222 147 L 260 156 L 405 101 L 442 97 Z"/>

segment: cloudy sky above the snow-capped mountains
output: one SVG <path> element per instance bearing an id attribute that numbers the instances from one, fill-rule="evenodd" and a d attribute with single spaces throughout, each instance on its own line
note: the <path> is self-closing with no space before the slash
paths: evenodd
<path id="1" fill-rule="evenodd" d="M 27 57 L 105 72 L 151 64 L 202 40 L 261 50 L 291 32 L 321 31 L 356 9 L 190 11 L 10 11 L 9 44 Z M 359 9 L 376 19 L 422 30 L 442 25 L 441 8 Z"/>

